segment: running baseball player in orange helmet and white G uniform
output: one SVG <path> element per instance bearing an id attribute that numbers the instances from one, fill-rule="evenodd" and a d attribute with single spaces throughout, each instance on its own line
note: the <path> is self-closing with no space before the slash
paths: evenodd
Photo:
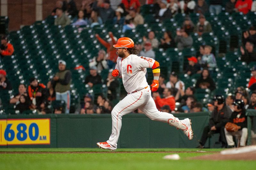
<path id="1" fill-rule="evenodd" d="M 159 86 L 159 63 L 152 58 L 137 56 L 139 50 L 134 47 L 131 38 L 119 38 L 113 46 L 116 48 L 119 57 L 112 76 L 122 78 L 124 88 L 128 94 L 116 104 L 111 112 L 112 134 L 108 141 L 99 142 L 97 145 L 102 149 L 116 150 L 122 127 L 122 117 L 138 108 L 151 120 L 165 122 L 177 129 L 181 129 L 191 140 L 193 138 L 191 121 L 188 118 L 179 120 L 170 113 L 158 111 L 154 99 L 151 97 L 151 91 L 156 91 Z M 145 77 L 147 68 L 152 68 L 154 75 L 154 80 L 150 87 Z"/>

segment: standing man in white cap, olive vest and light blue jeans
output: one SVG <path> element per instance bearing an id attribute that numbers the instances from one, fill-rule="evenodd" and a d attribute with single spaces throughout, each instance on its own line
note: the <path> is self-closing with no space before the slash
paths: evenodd
<path id="1" fill-rule="evenodd" d="M 66 102 L 65 113 L 69 113 L 70 109 L 70 84 L 71 72 L 66 69 L 66 62 L 59 60 L 59 72 L 52 78 L 52 86 L 56 92 L 56 100 L 64 100 Z"/>

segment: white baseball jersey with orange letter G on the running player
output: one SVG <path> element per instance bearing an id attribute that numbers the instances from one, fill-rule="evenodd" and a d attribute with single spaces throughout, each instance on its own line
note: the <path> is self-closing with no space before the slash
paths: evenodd
<path id="1" fill-rule="evenodd" d="M 116 69 L 122 77 L 124 89 L 127 93 L 139 91 L 148 86 L 145 75 L 147 68 L 152 68 L 155 63 L 153 58 L 131 54 L 123 60 L 118 57 L 116 62 Z"/>

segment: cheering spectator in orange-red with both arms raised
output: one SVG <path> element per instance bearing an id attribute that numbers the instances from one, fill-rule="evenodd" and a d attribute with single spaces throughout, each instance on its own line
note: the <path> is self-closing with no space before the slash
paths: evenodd
<path id="1" fill-rule="evenodd" d="M 104 45 L 104 47 L 107 48 L 107 58 L 108 60 L 112 61 L 113 63 L 116 63 L 117 54 L 116 54 L 116 48 L 113 47 L 114 44 L 116 44 L 117 38 L 113 35 L 112 32 L 108 33 L 109 39 L 108 42 L 100 38 L 99 34 L 95 34 L 95 37 L 98 39 L 98 41 Z"/>

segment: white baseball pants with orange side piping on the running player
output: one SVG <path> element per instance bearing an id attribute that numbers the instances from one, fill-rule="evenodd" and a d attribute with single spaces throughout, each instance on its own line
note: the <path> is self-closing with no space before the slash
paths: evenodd
<path id="1" fill-rule="evenodd" d="M 157 110 L 155 101 L 151 97 L 151 90 L 149 87 L 147 89 L 142 89 L 138 92 L 128 94 L 123 100 L 116 104 L 111 112 L 112 134 L 107 142 L 112 148 L 117 148 L 117 141 L 122 127 L 122 117 L 138 108 L 151 120 L 169 123 L 168 120 L 173 120 L 175 118 L 170 113 L 160 112 Z M 178 118 L 176 118 L 176 120 L 178 120 Z"/>

